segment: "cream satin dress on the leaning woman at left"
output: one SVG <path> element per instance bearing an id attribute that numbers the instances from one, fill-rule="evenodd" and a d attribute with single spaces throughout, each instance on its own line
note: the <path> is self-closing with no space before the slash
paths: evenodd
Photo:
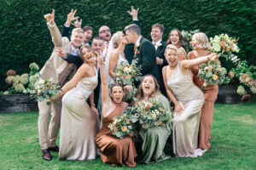
<path id="1" fill-rule="evenodd" d="M 59 159 L 96 159 L 98 150 L 94 139 L 99 122 L 86 102 L 96 86 L 97 73 L 94 77 L 84 77 L 63 96 Z"/>

